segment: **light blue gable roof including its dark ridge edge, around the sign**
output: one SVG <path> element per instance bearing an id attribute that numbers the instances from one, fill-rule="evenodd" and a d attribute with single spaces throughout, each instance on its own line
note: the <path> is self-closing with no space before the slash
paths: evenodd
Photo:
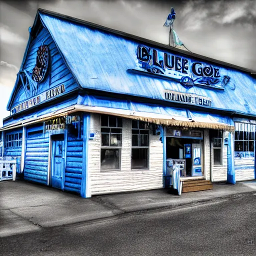
<path id="1" fill-rule="evenodd" d="M 244 90 L 256 82 L 251 76 L 252 70 L 44 9 L 37 11 L 31 29 L 33 37 L 41 24 L 51 35 L 79 87 L 160 100 L 164 89 L 187 92 L 179 82 L 127 73 L 135 62 L 134 45 L 144 44 L 222 67 L 224 74 L 231 76 L 236 90 L 229 88 L 219 92 L 194 86 L 189 93 L 210 97 L 215 102 L 215 109 L 230 112 L 237 109 L 242 114 L 256 115 L 256 103 L 253 102 L 256 92 L 243 95 Z M 27 50 L 23 62 L 26 54 Z M 233 104 L 234 101 L 237 105 Z"/>

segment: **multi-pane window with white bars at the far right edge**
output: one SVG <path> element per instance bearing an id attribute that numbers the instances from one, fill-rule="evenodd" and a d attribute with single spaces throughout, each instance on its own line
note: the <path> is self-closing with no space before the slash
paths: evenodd
<path id="1" fill-rule="evenodd" d="M 255 126 L 249 123 L 235 123 L 234 157 L 253 157 Z"/>

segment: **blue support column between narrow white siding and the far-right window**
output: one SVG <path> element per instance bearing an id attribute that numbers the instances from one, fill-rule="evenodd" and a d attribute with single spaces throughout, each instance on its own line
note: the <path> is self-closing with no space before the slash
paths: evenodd
<path id="1" fill-rule="evenodd" d="M 228 134 L 228 145 L 227 145 L 227 178 L 226 182 L 235 184 L 235 171 L 234 171 L 234 140 L 233 133 Z"/>

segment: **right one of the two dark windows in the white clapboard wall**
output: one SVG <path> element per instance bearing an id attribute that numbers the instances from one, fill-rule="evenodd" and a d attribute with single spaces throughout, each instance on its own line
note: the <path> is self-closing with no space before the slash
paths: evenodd
<path id="1" fill-rule="evenodd" d="M 131 168 L 148 168 L 149 129 L 142 121 L 131 121 Z"/>

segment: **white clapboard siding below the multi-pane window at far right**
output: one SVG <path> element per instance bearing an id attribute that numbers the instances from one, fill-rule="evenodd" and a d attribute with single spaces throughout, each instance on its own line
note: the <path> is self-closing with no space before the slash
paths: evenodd
<path id="1" fill-rule="evenodd" d="M 254 157 L 234 158 L 235 180 L 254 179 Z"/>

